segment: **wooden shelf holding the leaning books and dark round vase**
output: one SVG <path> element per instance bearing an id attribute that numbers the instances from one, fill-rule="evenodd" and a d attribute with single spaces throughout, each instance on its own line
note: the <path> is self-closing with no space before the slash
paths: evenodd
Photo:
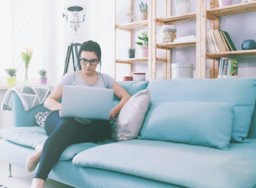
<path id="1" fill-rule="evenodd" d="M 231 51 L 231 52 L 219 52 L 219 53 L 206 54 L 206 58 L 208 59 L 232 58 L 236 56 L 256 56 L 256 50 Z"/>

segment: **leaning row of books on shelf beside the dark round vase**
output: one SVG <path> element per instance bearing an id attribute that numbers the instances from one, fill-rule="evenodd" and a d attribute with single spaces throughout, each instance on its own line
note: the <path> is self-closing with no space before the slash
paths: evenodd
<path id="1" fill-rule="evenodd" d="M 207 52 L 236 51 L 236 47 L 226 31 L 211 29 L 206 35 Z"/>

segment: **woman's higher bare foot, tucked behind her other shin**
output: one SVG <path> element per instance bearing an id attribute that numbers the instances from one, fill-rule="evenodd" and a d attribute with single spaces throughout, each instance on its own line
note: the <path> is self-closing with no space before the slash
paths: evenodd
<path id="1" fill-rule="evenodd" d="M 36 146 L 35 152 L 30 155 L 26 161 L 26 167 L 29 172 L 34 171 L 40 161 L 44 145 Z"/>

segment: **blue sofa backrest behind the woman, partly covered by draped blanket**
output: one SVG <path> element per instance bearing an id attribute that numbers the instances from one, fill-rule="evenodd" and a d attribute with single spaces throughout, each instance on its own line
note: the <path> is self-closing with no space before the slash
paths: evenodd
<path id="1" fill-rule="evenodd" d="M 120 81 L 118 82 L 120 86 L 122 86 L 130 95 L 134 95 L 138 93 L 138 91 L 144 90 L 148 86 L 148 81 Z M 113 98 L 113 107 L 118 104 L 120 100 L 117 97 Z M 45 108 L 44 105 L 37 106 L 29 111 L 25 111 L 24 107 L 20 101 L 18 95 L 13 92 L 12 95 L 12 116 L 13 116 L 13 126 L 15 127 L 29 127 L 36 126 L 37 123 L 35 121 L 34 113 L 40 111 L 49 111 L 49 109 Z"/>

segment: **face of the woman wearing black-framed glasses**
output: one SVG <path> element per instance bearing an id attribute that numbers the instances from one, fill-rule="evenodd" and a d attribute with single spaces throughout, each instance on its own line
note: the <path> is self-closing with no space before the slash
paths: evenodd
<path id="1" fill-rule="evenodd" d="M 82 51 L 80 56 L 80 64 L 83 72 L 93 74 L 96 72 L 99 59 L 95 52 Z"/>

